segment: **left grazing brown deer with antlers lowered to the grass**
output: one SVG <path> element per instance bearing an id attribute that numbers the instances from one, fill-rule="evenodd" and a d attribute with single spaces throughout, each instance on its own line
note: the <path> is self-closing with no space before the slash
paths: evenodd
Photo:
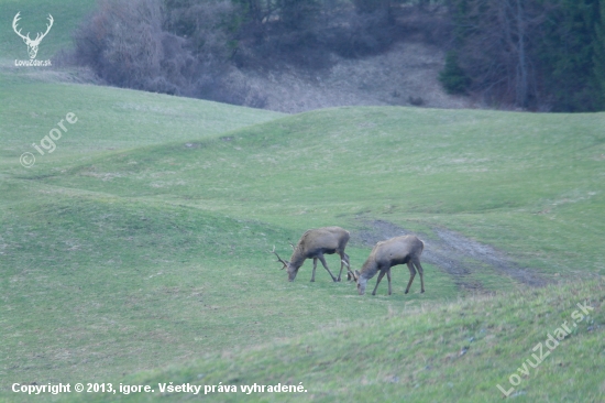
<path id="1" fill-rule="evenodd" d="M 340 281 L 342 274 L 342 266 L 346 265 L 348 272 L 350 272 L 349 255 L 344 253 L 344 248 L 349 242 L 349 231 L 340 227 L 324 227 L 318 229 L 309 229 L 307 232 L 300 237 L 300 240 L 296 244 L 290 243 L 294 252 L 289 262 L 284 261 L 277 252 L 275 252 L 275 247 L 273 247 L 273 253 L 277 255 L 277 261 L 284 264 L 282 270 L 287 268 L 288 281 L 294 281 L 298 269 L 302 265 L 306 259 L 314 260 L 314 273 L 311 274 L 311 282 L 315 281 L 315 270 L 317 269 L 317 260 L 321 261 L 321 264 L 326 268 L 328 273 L 334 282 Z M 340 255 L 340 273 L 338 273 L 338 279 L 334 277 L 323 254 L 338 253 Z"/>

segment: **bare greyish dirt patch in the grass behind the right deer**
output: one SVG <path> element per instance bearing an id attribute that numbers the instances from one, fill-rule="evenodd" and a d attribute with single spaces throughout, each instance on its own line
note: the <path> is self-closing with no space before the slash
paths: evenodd
<path id="1" fill-rule="evenodd" d="M 384 220 L 363 224 L 366 228 L 352 233 L 352 243 L 373 247 L 378 241 L 413 233 Z M 538 273 L 521 268 L 506 253 L 488 244 L 443 228 L 435 228 L 433 231 L 438 239 L 415 233 L 425 242 L 422 260 L 450 274 L 460 288 L 482 291 L 481 282 L 471 279 L 471 275 L 486 270 L 494 270 L 529 286 L 543 286 L 548 283 Z"/>

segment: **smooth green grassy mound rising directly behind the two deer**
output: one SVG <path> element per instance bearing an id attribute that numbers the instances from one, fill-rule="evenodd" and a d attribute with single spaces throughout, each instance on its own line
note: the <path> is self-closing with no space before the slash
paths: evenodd
<path id="1" fill-rule="evenodd" d="M 605 274 L 604 123 L 603 113 L 342 108 L 114 153 L 41 183 L 297 231 L 380 218 L 430 240 L 448 228 L 530 270 Z"/>

